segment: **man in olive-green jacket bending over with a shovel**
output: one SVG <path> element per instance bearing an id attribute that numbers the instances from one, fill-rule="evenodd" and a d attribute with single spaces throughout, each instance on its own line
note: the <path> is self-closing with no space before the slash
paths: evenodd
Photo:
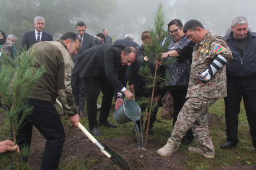
<path id="1" fill-rule="evenodd" d="M 71 74 L 74 67 L 71 56 L 76 54 L 79 48 L 79 40 L 75 33 L 66 33 L 57 41 L 44 41 L 34 44 L 29 52 L 35 52 L 38 63 L 46 71 L 33 87 L 33 92 L 28 100 L 33 105 L 33 114 L 27 116 L 23 126 L 16 135 L 16 141 L 20 148 L 30 146 L 32 128 L 35 126 L 47 140 L 44 149 L 41 169 L 57 169 L 65 139 L 59 114 L 55 109 L 56 97 L 63 105 L 64 112 L 70 116 L 70 122 L 74 126 L 79 125 L 79 114 L 74 103 L 72 88 L 70 85 Z"/>

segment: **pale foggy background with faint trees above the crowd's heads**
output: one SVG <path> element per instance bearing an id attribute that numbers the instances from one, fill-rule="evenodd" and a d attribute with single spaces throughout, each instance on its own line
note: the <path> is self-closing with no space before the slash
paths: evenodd
<path id="1" fill-rule="evenodd" d="M 90 35 L 106 28 L 113 41 L 132 33 L 134 41 L 141 44 L 141 33 L 153 27 L 159 3 L 156 0 L 0 0 L 0 30 L 17 37 L 17 50 L 24 33 L 34 29 L 35 16 L 44 17 L 44 31 L 53 34 L 54 39 L 67 31 L 76 32 L 75 24 L 82 20 Z M 166 24 L 174 18 L 183 24 L 196 19 L 205 29 L 223 36 L 233 18 L 245 16 L 248 27 L 256 31 L 255 0 L 162 0 L 161 3 Z"/>

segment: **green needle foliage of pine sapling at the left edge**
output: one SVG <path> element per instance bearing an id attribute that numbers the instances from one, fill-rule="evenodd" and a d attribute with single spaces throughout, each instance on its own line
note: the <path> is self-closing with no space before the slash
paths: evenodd
<path id="1" fill-rule="evenodd" d="M 33 67 L 38 63 L 34 56 L 35 52 L 26 52 L 25 50 L 15 61 L 10 60 L 5 54 L 1 55 L 1 103 L 8 107 L 8 109 L 5 109 L 5 116 L 10 124 L 14 143 L 16 143 L 18 129 L 33 109 L 33 106 L 28 105 L 27 99 L 31 95 L 33 86 L 44 73 L 44 66 Z M 27 157 L 28 154 L 29 148 L 25 147 L 20 150 L 20 153 L 16 152 L 12 156 L 15 169 L 23 169 L 27 166 L 23 163 L 23 158 Z"/>

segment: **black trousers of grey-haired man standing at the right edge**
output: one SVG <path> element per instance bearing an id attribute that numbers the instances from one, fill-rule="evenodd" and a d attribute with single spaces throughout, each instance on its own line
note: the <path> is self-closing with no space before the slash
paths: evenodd
<path id="1" fill-rule="evenodd" d="M 256 78 L 227 77 L 227 97 L 225 100 L 227 141 L 238 143 L 238 114 L 240 103 L 244 100 L 244 107 L 253 146 L 256 148 Z"/>

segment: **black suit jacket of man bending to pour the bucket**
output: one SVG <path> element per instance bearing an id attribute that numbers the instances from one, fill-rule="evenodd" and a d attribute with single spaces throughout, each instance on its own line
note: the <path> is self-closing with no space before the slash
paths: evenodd
<path id="1" fill-rule="evenodd" d="M 118 80 L 121 52 L 124 46 L 101 44 L 86 50 L 79 58 L 80 78 L 96 78 L 105 75 L 107 83 L 119 92 L 124 85 Z"/>

